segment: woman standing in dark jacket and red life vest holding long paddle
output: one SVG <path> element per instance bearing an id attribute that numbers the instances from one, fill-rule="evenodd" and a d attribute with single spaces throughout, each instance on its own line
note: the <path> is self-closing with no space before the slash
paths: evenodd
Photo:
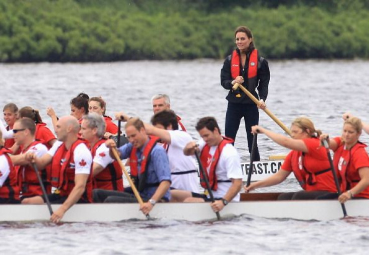
<path id="1" fill-rule="evenodd" d="M 237 48 L 224 61 L 221 70 L 221 84 L 228 89 L 228 107 L 226 113 L 225 134 L 236 139 L 241 118 L 244 117 L 247 142 L 251 153 L 251 126 L 259 123 L 258 106 L 239 88 L 232 89 L 237 82 L 248 89 L 256 98 L 260 98 L 259 108 L 265 109 L 268 95 L 270 71 L 268 61 L 259 55 L 254 45 L 251 30 L 246 26 L 239 26 L 235 31 Z M 259 94 L 256 92 L 258 89 Z M 256 147 L 254 161 L 260 160 Z"/>

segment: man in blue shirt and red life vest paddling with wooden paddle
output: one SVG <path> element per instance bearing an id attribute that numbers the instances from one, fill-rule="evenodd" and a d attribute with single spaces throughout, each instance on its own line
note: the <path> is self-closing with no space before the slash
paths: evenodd
<path id="1" fill-rule="evenodd" d="M 156 143 L 156 138 L 146 134 L 143 122 L 139 118 L 130 118 L 125 125 L 125 132 L 129 143 L 119 147 L 118 152 L 122 159 L 129 157 L 131 176 L 145 201 L 140 209 L 147 214 L 156 202 L 170 199 L 168 157 L 164 148 Z M 105 144 L 114 157 L 111 151 L 111 148 L 116 146 L 114 140 L 109 139 Z M 93 198 L 95 202 L 137 201 L 130 188 L 126 188 L 125 192 L 94 189 Z"/>

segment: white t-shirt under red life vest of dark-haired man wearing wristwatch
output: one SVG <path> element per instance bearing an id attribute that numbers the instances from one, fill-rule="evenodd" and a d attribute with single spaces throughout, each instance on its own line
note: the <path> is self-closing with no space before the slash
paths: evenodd
<path id="1" fill-rule="evenodd" d="M 202 150 L 205 146 L 205 141 L 201 139 L 199 141 L 200 150 Z M 208 160 L 212 160 L 214 153 L 218 146 L 211 146 L 209 154 L 211 155 Z M 210 164 L 207 169 L 208 173 L 210 170 Z M 236 148 L 232 145 L 232 143 L 227 143 L 222 150 L 222 153 L 219 157 L 218 164 L 215 168 L 215 173 L 217 175 L 218 180 L 227 180 L 227 179 L 242 179 L 242 168 L 240 156 L 237 153 Z M 215 198 L 223 197 L 228 189 L 231 187 L 232 182 L 218 182 L 218 189 L 216 191 L 213 190 L 213 195 Z M 232 201 L 240 201 L 240 193 L 238 193 Z"/>

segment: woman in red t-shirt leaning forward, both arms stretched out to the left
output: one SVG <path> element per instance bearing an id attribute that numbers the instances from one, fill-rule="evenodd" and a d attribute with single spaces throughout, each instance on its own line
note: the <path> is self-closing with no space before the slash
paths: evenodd
<path id="1" fill-rule="evenodd" d="M 282 182 L 293 172 L 304 190 L 281 193 L 280 200 L 316 199 L 319 196 L 337 192 L 327 151 L 320 144 L 320 130 L 316 130 L 313 122 L 306 117 L 296 118 L 291 124 L 292 138 L 272 132 L 261 126 L 252 127 L 253 133 L 264 133 L 273 141 L 286 148 L 288 153 L 281 168 L 272 176 L 245 186 L 249 192 L 258 187 L 267 187 Z"/>

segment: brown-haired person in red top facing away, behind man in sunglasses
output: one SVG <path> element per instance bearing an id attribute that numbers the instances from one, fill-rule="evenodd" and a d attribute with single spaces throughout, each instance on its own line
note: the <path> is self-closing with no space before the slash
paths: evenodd
<path id="1" fill-rule="evenodd" d="M 36 123 L 35 138 L 40 141 L 44 141 L 46 145 L 51 148 L 56 141 L 55 135 L 46 126 L 46 123 L 42 122 L 39 110 L 33 109 L 30 106 L 22 107 L 19 110 L 19 118 L 28 117 L 33 119 Z"/>

